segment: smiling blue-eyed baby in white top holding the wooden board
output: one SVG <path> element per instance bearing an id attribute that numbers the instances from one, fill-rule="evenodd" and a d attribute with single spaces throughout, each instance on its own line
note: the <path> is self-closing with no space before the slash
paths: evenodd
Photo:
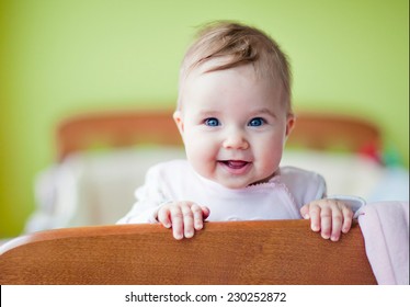
<path id="1" fill-rule="evenodd" d="M 201 31 L 182 62 L 173 118 L 187 159 L 152 167 L 118 224 L 160 223 L 175 239 L 205 219 L 310 218 L 332 241 L 350 230 L 353 211 L 326 198 L 321 175 L 280 168 L 295 124 L 291 71 L 263 32 L 229 22 Z"/>

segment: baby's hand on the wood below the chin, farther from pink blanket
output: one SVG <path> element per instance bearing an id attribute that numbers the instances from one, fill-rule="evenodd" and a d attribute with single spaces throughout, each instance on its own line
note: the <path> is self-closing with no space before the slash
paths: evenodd
<path id="1" fill-rule="evenodd" d="M 158 221 L 171 228 L 176 240 L 192 238 L 195 230 L 204 227 L 204 219 L 209 216 L 209 209 L 192 202 L 174 202 L 163 205 L 158 211 Z"/>

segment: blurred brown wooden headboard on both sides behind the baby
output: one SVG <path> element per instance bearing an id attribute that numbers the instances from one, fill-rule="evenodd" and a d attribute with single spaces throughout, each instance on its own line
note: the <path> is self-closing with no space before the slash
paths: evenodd
<path id="1" fill-rule="evenodd" d="M 127 147 L 138 144 L 182 146 L 171 110 L 95 112 L 73 115 L 57 127 L 57 160 L 95 144 Z M 379 148 L 378 128 L 362 118 L 338 114 L 296 114 L 288 146 L 326 149 L 342 147 L 357 152 L 368 146 Z"/>

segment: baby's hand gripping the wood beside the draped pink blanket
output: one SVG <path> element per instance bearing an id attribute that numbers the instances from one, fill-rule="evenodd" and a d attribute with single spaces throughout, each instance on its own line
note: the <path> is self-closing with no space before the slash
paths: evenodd
<path id="1" fill-rule="evenodd" d="M 338 241 L 340 232 L 346 234 L 353 219 L 352 209 L 343 202 L 337 200 L 318 200 L 300 208 L 304 218 L 310 218 L 310 228 L 321 230 L 323 239 Z"/>

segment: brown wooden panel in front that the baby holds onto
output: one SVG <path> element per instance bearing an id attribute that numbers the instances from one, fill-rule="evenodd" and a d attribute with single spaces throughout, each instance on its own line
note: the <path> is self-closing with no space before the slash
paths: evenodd
<path id="1" fill-rule="evenodd" d="M 307 220 L 206 223 L 176 241 L 159 225 L 47 230 L 0 248 L 0 284 L 375 284 L 357 223 L 339 242 Z"/>

